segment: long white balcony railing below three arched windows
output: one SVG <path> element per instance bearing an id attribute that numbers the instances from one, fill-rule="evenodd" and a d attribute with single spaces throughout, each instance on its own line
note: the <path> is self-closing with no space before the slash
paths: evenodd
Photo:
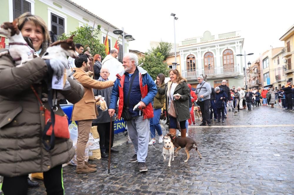
<path id="1" fill-rule="evenodd" d="M 220 75 L 220 74 L 230 74 L 230 73 L 239 73 L 239 65 L 224 65 L 221 67 L 210 67 L 202 69 L 192 69 L 192 70 L 182 70 L 182 75 L 185 78 L 196 77 L 201 74 L 203 75 Z"/>

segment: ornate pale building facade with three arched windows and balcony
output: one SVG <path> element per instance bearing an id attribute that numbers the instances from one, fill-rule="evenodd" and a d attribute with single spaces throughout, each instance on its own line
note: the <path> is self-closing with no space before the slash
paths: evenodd
<path id="1" fill-rule="evenodd" d="M 244 86 L 242 46 L 244 38 L 240 31 L 211 35 L 209 31 L 203 37 L 186 39 L 180 43 L 181 72 L 192 87 L 198 84 L 197 76 L 206 77 L 212 87 L 227 80 L 227 85 Z"/>

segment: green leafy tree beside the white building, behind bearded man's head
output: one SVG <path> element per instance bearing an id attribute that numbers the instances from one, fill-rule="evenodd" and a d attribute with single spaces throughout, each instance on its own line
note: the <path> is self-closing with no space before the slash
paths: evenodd
<path id="1" fill-rule="evenodd" d="M 167 63 L 163 63 L 164 56 L 160 52 L 154 54 L 154 52 L 148 51 L 145 54 L 145 58 L 139 59 L 139 64 L 143 63 L 142 67 L 150 74 L 153 80 L 156 79 L 159 73 L 168 75 Z"/>

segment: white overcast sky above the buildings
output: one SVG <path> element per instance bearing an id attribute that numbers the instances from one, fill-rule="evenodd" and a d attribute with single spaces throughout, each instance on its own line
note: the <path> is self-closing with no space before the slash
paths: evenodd
<path id="1" fill-rule="evenodd" d="M 279 38 L 294 24 L 294 0 L 72 0 L 136 39 L 129 49 L 146 52 L 150 41 L 174 43 L 173 17 L 176 13 L 176 42 L 203 36 L 241 31 L 247 61 L 270 48 L 284 47 Z"/>

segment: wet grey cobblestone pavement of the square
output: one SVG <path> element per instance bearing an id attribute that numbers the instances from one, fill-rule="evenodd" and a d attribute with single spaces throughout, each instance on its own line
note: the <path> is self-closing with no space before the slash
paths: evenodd
<path id="1" fill-rule="evenodd" d="M 200 124 L 196 120 L 196 124 Z M 98 171 L 76 174 L 74 166 L 63 169 L 66 194 L 294 194 L 294 112 L 260 106 L 253 111 L 228 113 L 225 123 L 212 127 L 189 127 L 196 140 L 187 163 L 186 153 L 163 162 L 163 144 L 148 148 L 148 172 L 140 173 L 137 163 L 129 163 L 133 145 L 116 146 L 119 153 L 91 161 Z M 118 139 L 119 137 L 116 137 Z M 158 136 L 156 138 L 158 140 Z M 44 184 L 29 194 L 45 194 Z"/>

